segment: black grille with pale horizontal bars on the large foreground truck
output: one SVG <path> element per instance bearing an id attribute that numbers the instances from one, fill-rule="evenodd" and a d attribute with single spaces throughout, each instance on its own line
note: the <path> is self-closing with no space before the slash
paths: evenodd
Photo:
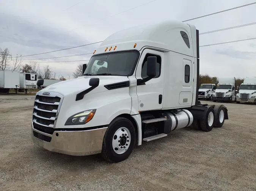
<path id="1" fill-rule="evenodd" d="M 58 111 L 63 100 L 63 96 L 54 92 L 50 95 L 36 95 L 33 109 L 33 126 L 35 129 L 48 134 L 53 134 Z"/>

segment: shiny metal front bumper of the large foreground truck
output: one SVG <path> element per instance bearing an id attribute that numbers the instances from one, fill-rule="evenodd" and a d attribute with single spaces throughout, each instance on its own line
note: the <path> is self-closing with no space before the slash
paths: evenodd
<path id="1" fill-rule="evenodd" d="M 52 135 L 31 129 L 33 142 L 52 152 L 73 156 L 101 153 L 107 127 L 86 131 L 54 131 Z"/>

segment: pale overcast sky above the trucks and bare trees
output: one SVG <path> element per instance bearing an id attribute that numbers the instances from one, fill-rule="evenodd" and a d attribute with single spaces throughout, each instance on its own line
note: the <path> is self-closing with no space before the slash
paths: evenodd
<path id="1" fill-rule="evenodd" d="M 253 2 L 253 0 L 155 0 L 153 2 L 152 0 L 1 0 L 0 47 L 9 48 L 13 56 L 54 51 L 99 42 L 115 31 L 140 23 L 160 22 L 168 18 L 182 21 Z M 143 5 L 145 3 L 147 4 Z M 187 23 L 195 25 L 199 33 L 207 32 L 256 22 L 255 10 L 256 4 Z M 199 41 L 200 45 L 208 45 L 253 38 L 256 37 L 255 31 L 256 25 L 245 26 L 200 35 Z M 90 53 L 99 45 L 23 59 L 25 63 L 25 59 Z M 256 40 L 201 47 L 200 73 L 218 77 L 256 76 L 255 48 Z M 89 60 L 90 56 L 38 60 L 38 62 Z M 79 63 L 87 62 L 40 63 L 40 66 L 49 64 L 57 76 L 62 74 L 66 77 L 72 74 Z"/>

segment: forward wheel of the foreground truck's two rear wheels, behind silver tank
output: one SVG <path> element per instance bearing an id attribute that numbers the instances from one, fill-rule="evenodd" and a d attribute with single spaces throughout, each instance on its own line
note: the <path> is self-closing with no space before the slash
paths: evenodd
<path id="1" fill-rule="evenodd" d="M 214 108 L 207 107 L 204 119 L 200 120 L 200 126 L 202 131 L 209 132 L 212 130 L 214 127 Z"/>

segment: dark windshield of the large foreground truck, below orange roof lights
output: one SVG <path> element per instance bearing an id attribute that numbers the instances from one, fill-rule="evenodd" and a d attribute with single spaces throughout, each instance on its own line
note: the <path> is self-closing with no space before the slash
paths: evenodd
<path id="1" fill-rule="evenodd" d="M 138 58 L 138 51 L 95 55 L 91 57 L 83 75 L 130 76 L 133 74 Z"/>

